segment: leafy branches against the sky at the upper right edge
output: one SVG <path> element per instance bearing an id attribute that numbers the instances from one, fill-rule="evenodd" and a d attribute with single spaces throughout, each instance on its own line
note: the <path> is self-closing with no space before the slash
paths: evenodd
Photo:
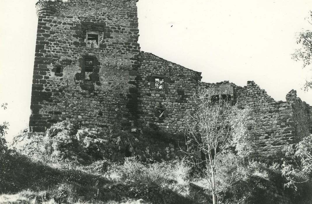
<path id="1" fill-rule="evenodd" d="M 310 11 L 310 16 L 306 19 L 312 25 L 312 11 Z M 310 66 L 312 62 L 312 31 L 303 30 L 299 32 L 297 34 L 297 44 L 301 44 L 302 47 L 295 50 L 295 53 L 292 54 L 292 58 L 295 61 L 303 61 L 303 68 Z M 312 70 L 311 66 L 310 69 Z M 310 81 L 306 81 L 304 89 L 312 89 L 312 78 Z"/>

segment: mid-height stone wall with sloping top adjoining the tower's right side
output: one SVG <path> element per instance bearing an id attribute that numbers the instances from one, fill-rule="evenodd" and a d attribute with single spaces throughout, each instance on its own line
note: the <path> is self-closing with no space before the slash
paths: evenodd
<path id="1" fill-rule="evenodd" d="M 138 59 L 138 128 L 152 122 L 170 133 L 178 133 L 188 120 L 187 110 L 193 107 L 191 97 L 201 73 L 151 53 L 142 52 Z M 163 88 L 157 87 L 158 78 L 163 79 Z"/>

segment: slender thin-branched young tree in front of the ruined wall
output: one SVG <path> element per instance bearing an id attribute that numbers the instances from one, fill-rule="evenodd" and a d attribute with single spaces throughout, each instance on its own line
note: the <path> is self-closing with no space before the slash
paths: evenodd
<path id="1" fill-rule="evenodd" d="M 222 202 L 218 194 L 236 182 L 234 176 L 227 183 L 218 182 L 220 159 L 231 148 L 235 150 L 235 159 L 254 152 L 255 120 L 250 108 L 238 109 L 231 97 L 213 95 L 208 89 L 199 89 L 194 103 L 196 108 L 189 113 L 192 121 L 186 130 L 187 154 L 190 163 L 201 169 L 215 204 Z"/>

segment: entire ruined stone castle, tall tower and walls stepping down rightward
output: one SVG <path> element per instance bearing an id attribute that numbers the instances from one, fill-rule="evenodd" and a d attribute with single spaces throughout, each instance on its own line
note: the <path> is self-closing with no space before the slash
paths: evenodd
<path id="1" fill-rule="evenodd" d="M 311 132 L 312 107 L 294 90 L 275 101 L 253 81 L 238 87 L 202 83 L 201 73 L 140 51 L 137 0 L 37 2 L 30 132 L 45 132 L 58 121 L 132 132 L 151 123 L 178 134 L 193 109 L 197 87 L 227 94 L 257 119 L 263 157 Z M 51 130 L 49 134 L 57 134 Z M 55 131 L 53 133 L 53 131 Z"/>

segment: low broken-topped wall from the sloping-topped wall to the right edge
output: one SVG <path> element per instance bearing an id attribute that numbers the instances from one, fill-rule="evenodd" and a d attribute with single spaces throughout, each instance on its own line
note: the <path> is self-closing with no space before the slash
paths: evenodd
<path id="1" fill-rule="evenodd" d="M 297 98 L 294 90 L 287 94 L 284 102 L 272 99 L 253 81 L 248 81 L 244 87 L 228 81 L 202 83 L 201 88 L 210 89 L 215 95 L 229 95 L 238 108 L 253 109 L 260 124 L 256 151 L 262 158 L 274 157 L 283 145 L 295 144 L 311 131 L 311 106 Z"/>

